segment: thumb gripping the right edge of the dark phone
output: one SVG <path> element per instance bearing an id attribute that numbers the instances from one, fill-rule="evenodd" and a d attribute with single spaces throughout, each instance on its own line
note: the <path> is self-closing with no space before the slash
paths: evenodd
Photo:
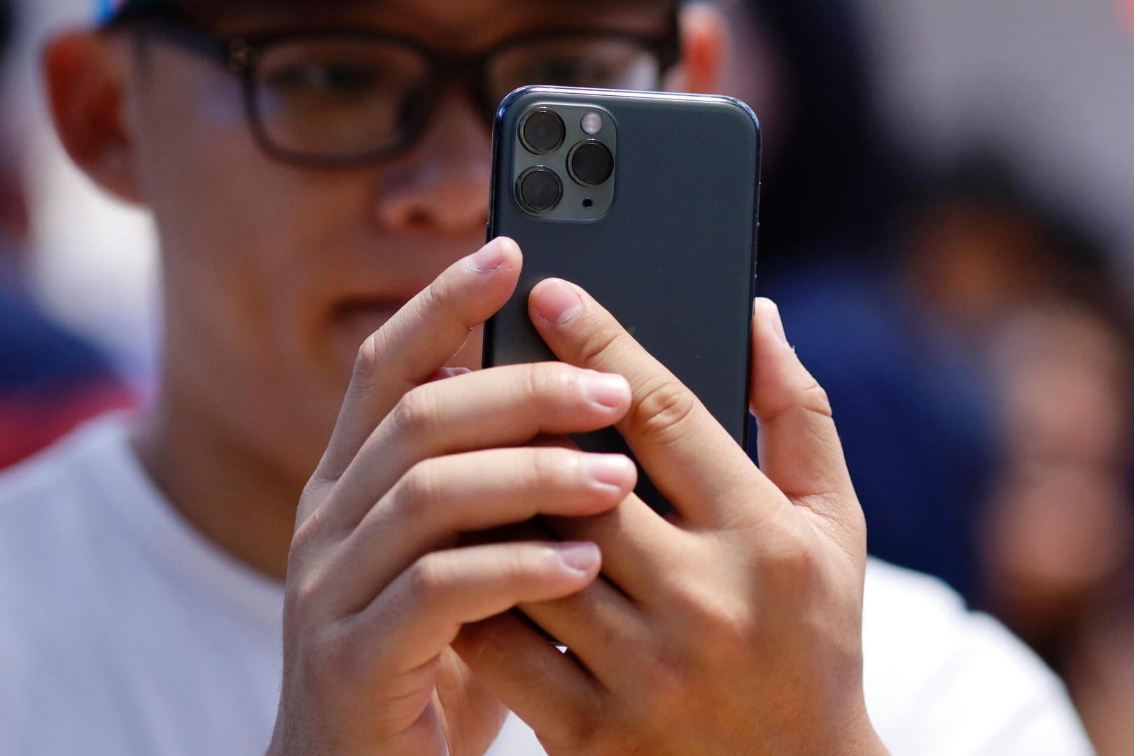
<path id="1" fill-rule="evenodd" d="M 779 308 L 756 299 L 750 401 L 760 469 L 793 503 L 827 518 L 862 517 L 827 392 L 788 345 Z"/>

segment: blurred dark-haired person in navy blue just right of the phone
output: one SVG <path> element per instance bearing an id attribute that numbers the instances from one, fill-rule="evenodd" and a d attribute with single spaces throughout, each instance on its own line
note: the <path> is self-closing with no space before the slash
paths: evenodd
<path id="1" fill-rule="evenodd" d="M 858 7 L 719 6 L 735 35 L 723 91 L 763 125 L 758 290 L 838 410 L 871 553 L 972 600 L 991 418 L 900 275 L 894 226 L 912 180 L 877 122 Z"/>

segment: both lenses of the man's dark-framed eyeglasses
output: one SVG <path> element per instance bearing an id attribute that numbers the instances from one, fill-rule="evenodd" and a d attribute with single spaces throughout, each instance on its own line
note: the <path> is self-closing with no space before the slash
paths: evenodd
<path id="1" fill-rule="evenodd" d="M 660 63 L 644 44 L 618 37 L 513 45 L 486 63 L 492 104 L 528 84 L 649 90 Z M 305 39 L 266 46 L 253 79 L 255 118 L 276 150 L 349 160 L 381 153 L 432 93 L 430 62 L 416 50 L 379 40 Z"/>

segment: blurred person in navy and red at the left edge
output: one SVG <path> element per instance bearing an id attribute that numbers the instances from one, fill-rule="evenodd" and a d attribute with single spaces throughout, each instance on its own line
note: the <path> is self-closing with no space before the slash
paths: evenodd
<path id="1" fill-rule="evenodd" d="M 14 33 L 0 0 L 0 82 Z M 0 91 L 5 87 L 0 86 Z M 28 216 L 15 139 L 0 121 L 0 467 L 109 409 L 133 405 L 98 349 L 56 324 L 23 286 Z"/>

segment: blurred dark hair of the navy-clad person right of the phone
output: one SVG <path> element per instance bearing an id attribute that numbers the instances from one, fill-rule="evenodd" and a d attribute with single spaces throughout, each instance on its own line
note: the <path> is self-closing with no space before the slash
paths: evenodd
<path id="1" fill-rule="evenodd" d="M 762 264 L 883 248 L 905 180 L 879 126 L 862 24 L 847 0 L 748 0 L 781 58 L 789 118 L 765 176 Z"/>

